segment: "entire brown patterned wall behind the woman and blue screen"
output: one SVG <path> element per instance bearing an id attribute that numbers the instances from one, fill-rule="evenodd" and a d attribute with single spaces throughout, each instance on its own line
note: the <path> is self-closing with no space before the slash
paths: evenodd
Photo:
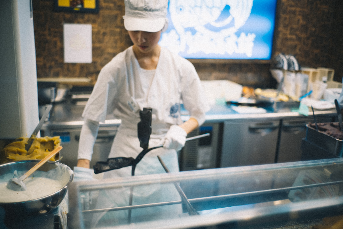
<path id="1" fill-rule="evenodd" d="M 99 0 L 99 13 L 54 12 L 52 0 L 33 0 L 38 77 L 88 77 L 96 80 L 100 69 L 117 53 L 132 45 L 123 26 L 122 0 Z M 293 54 L 301 66 L 335 69 L 343 75 L 341 0 L 279 0 L 273 56 Z M 63 62 L 63 23 L 92 24 L 92 64 Z M 254 87 L 274 87 L 270 65 L 254 61 L 194 63 L 202 80 L 228 79 Z"/>

